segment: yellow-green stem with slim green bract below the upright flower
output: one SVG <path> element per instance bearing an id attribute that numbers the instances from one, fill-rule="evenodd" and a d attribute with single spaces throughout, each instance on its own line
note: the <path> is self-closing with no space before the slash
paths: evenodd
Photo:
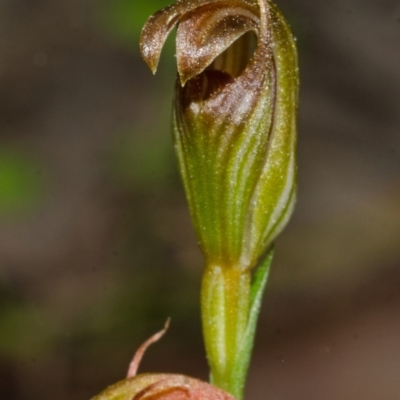
<path id="1" fill-rule="evenodd" d="M 212 383 L 243 398 L 272 251 L 256 271 L 209 265 L 202 282 L 202 320 Z"/>

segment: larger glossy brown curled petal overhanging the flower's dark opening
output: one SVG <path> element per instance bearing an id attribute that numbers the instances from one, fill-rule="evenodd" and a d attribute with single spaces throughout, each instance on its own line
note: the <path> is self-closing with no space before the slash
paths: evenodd
<path id="1" fill-rule="evenodd" d="M 257 9 L 241 0 L 218 1 L 182 16 L 176 48 L 181 84 L 200 74 L 248 31 L 257 32 Z"/>

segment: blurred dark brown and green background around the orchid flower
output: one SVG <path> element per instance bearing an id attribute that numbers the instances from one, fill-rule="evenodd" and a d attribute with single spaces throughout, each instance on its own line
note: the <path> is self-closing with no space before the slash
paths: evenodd
<path id="1" fill-rule="evenodd" d="M 207 379 L 202 258 L 175 166 L 168 0 L 0 0 L 0 399 L 86 400 L 141 371 Z M 281 0 L 301 65 L 299 200 L 247 399 L 400 398 L 400 3 Z"/>

